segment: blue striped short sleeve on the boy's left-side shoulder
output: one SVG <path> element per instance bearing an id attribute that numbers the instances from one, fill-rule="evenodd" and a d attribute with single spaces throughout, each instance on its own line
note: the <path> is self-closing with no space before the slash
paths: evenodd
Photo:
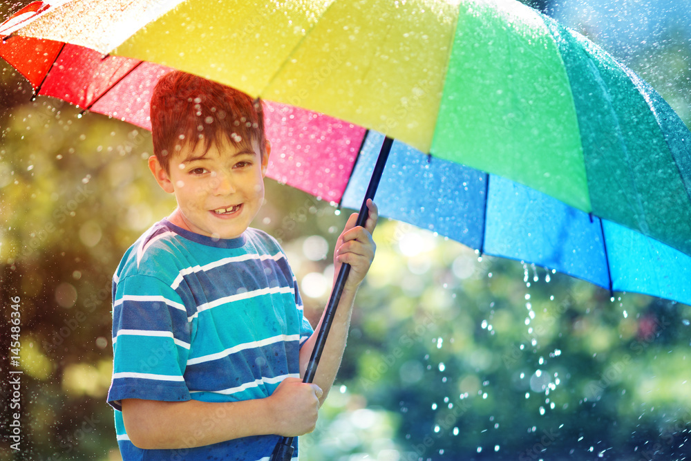
<path id="1" fill-rule="evenodd" d="M 122 411 L 127 398 L 191 399 L 184 382 L 191 327 L 169 285 L 153 276 L 120 280 L 113 297 L 113 378 L 108 404 Z"/>

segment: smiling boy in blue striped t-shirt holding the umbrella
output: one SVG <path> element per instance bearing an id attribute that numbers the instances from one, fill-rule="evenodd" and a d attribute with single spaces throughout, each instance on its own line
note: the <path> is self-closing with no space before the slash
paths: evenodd
<path id="1" fill-rule="evenodd" d="M 174 71 L 155 88 L 151 123 L 149 168 L 178 206 L 113 276 L 108 403 L 122 457 L 267 460 L 278 435 L 314 429 L 374 258 L 377 207 L 368 202 L 365 227 L 350 216 L 337 241 L 336 273 L 352 269 L 314 384 L 303 384 L 316 333 L 281 247 L 249 227 L 271 153 L 261 102 Z"/>

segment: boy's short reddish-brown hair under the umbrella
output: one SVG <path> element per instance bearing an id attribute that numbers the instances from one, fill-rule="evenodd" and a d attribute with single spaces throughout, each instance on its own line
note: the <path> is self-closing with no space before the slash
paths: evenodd
<path id="1" fill-rule="evenodd" d="M 153 153 L 170 172 L 172 156 L 183 146 L 205 149 L 212 142 L 229 142 L 252 149 L 256 140 L 266 155 L 264 111 L 259 99 L 229 86 L 173 70 L 161 77 L 151 96 Z"/>

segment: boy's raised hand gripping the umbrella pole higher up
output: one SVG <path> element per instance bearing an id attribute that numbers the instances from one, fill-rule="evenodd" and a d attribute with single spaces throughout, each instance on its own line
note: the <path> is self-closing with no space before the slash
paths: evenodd
<path id="1" fill-rule="evenodd" d="M 377 205 L 372 200 L 367 200 L 367 207 L 369 214 L 365 227 L 355 227 L 357 213 L 351 214 L 334 250 L 334 279 L 341 270 L 341 264 L 350 264 L 350 274 L 345 281 L 345 287 L 350 289 L 359 287 L 375 258 L 376 245 L 372 240 L 372 232 L 377 225 L 379 214 Z"/>

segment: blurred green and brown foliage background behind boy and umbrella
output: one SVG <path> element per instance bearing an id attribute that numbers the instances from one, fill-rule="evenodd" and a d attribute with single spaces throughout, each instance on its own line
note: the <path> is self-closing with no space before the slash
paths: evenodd
<path id="1" fill-rule="evenodd" d="M 0 19 L 25 3 L 3 3 Z M 566 23 L 636 70 L 691 125 L 691 32 L 679 26 L 688 16 L 670 10 L 641 43 L 632 31 L 612 32 L 614 12 L 588 10 L 585 0 L 578 8 L 524 3 L 574 21 Z M 625 19 L 645 7 L 618 4 Z M 673 7 L 690 10 L 684 1 Z M 174 201 L 146 168 L 150 133 L 52 98 L 32 101 L 30 84 L 1 60 L 0 68 L 0 461 L 120 460 L 105 403 L 111 276 Z M 313 323 L 349 212 L 267 180 L 254 225 L 281 238 Z M 375 241 L 343 367 L 316 431 L 301 438 L 301 459 L 638 461 L 691 453 L 690 306 L 612 298 L 386 219 Z M 19 452 L 7 426 L 12 297 L 21 306 Z"/>

